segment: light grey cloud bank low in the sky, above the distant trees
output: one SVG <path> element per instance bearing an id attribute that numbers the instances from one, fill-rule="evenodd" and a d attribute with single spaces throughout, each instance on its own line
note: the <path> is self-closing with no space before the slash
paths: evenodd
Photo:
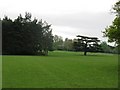
<path id="1" fill-rule="evenodd" d="M 53 33 L 63 37 L 75 37 L 77 34 L 96 36 L 102 39 L 102 31 L 114 20 L 109 12 L 80 12 L 61 15 L 39 15 L 52 24 Z"/>

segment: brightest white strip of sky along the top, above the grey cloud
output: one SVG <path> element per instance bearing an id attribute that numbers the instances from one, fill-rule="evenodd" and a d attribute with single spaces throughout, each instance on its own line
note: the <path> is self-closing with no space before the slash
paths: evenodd
<path id="1" fill-rule="evenodd" d="M 1 0 L 0 11 L 63 14 L 108 11 L 117 0 Z"/>

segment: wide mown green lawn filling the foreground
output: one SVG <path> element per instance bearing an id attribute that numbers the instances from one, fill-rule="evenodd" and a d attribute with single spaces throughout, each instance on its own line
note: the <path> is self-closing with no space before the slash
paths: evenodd
<path id="1" fill-rule="evenodd" d="M 50 52 L 49 56 L 3 56 L 3 88 L 115 88 L 117 55 Z"/>

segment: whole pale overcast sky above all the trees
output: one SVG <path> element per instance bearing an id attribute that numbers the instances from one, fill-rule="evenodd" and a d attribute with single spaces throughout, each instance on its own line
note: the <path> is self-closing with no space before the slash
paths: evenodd
<path id="1" fill-rule="evenodd" d="M 102 31 L 114 20 L 110 13 L 117 0 L 1 0 L 0 17 L 16 18 L 30 12 L 52 24 L 53 34 L 63 38 L 86 35 L 103 38 Z"/>

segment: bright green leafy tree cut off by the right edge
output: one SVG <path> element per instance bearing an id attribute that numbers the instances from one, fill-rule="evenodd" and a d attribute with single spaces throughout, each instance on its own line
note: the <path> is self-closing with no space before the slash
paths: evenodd
<path id="1" fill-rule="evenodd" d="M 112 25 L 105 28 L 104 36 L 108 37 L 109 42 L 115 42 L 120 46 L 120 0 L 115 3 L 113 12 L 116 14 Z"/>

